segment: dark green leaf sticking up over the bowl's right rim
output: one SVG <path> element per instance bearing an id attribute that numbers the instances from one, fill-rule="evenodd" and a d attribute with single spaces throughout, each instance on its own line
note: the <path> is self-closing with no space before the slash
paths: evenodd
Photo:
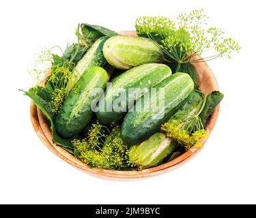
<path id="1" fill-rule="evenodd" d="M 203 110 L 200 113 L 201 121 L 204 127 L 209 116 L 214 111 L 214 108 L 218 106 L 218 104 L 221 102 L 223 97 L 224 97 L 223 93 L 219 91 L 213 91 L 207 96 L 205 106 L 203 107 Z"/>

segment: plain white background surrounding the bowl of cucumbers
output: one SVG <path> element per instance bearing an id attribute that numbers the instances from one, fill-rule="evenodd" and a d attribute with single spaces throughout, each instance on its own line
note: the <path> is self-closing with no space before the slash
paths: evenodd
<path id="1" fill-rule="evenodd" d="M 178 204 L 256 203 L 255 1 L 1 1 L 0 203 Z M 62 161 L 35 134 L 26 70 L 44 46 L 75 42 L 78 22 L 133 30 L 138 16 L 204 8 L 242 50 L 209 63 L 225 98 L 197 157 L 145 181 L 91 177 Z"/>

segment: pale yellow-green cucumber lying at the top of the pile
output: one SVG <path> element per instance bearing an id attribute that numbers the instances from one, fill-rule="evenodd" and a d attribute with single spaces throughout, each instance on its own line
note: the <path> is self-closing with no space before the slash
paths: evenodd
<path id="1" fill-rule="evenodd" d="M 154 42 L 145 37 L 115 35 L 103 46 L 103 54 L 113 67 L 130 69 L 144 63 L 162 63 L 164 55 Z"/>

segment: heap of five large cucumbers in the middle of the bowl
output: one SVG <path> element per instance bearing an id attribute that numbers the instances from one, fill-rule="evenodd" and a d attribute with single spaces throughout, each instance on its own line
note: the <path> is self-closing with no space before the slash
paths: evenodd
<path id="1" fill-rule="evenodd" d="M 100 37 L 76 65 L 76 73 L 68 84 L 71 87 L 70 94 L 55 121 L 58 133 L 63 138 L 79 134 L 94 116 L 91 104 L 97 96 L 89 95 L 90 91 L 95 88 L 105 89 L 106 83 L 112 82 L 104 96 L 99 96 L 99 104 L 105 106 L 108 101 L 115 102 L 119 97 L 115 92 L 119 89 L 128 93 L 129 88 L 150 91 L 154 87 L 156 97 L 145 98 L 145 93 L 128 96 L 125 99 L 127 102 L 120 102 L 120 105 L 126 106 L 126 110 L 111 108 L 109 111 L 98 111 L 97 119 L 104 125 L 122 125 L 121 136 L 129 145 L 138 144 L 152 136 L 162 123 L 177 112 L 194 89 L 193 80 L 188 74 L 179 72 L 172 75 L 170 67 L 162 64 L 163 61 L 162 50 L 147 38 L 122 35 L 109 39 Z M 115 78 L 111 80 L 113 69 L 106 72 L 103 68 L 108 64 L 124 72 L 119 76 L 113 75 Z M 156 103 L 151 99 L 158 101 L 157 92 L 160 88 L 165 90 L 165 104 L 164 108 L 160 108 L 164 114 L 158 118 L 157 112 L 154 114 L 150 106 Z M 134 99 L 130 101 L 129 97 Z M 138 106 L 137 102 L 142 104 L 143 110 L 132 110 Z"/>

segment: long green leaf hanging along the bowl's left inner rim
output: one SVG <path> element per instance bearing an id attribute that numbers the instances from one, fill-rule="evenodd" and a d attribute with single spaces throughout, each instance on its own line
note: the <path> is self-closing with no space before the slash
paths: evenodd
<path id="1" fill-rule="evenodd" d="M 57 131 L 55 129 L 54 122 L 56 119 L 56 114 L 51 111 L 51 108 L 48 105 L 48 99 L 51 93 L 49 93 L 44 87 L 33 87 L 29 89 L 29 91 L 23 91 L 23 93 L 33 100 L 33 103 L 38 108 L 40 108 L 44 116 L 46 116 L 48 121 L 50 121 L 51 131 L 53 134 L 53 142 L 56 142 L 57 144 L 62 146 L 63 149 L 65 149 L 66 151 L 74 153 L 74 146 L 72 145 L 72 140 L 74 140 L 74 138 L 62 138 L 61 136 L 59 136 L 59 134 L 57 134 Z"/>

